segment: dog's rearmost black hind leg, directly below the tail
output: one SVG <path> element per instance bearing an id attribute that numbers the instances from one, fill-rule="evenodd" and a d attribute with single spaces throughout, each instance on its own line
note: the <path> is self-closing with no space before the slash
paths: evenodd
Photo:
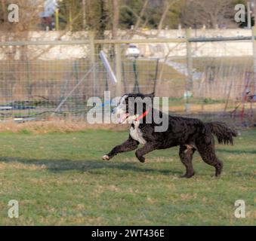
<path id="1" fill-rule="evenodd" d="M 223 163 L 218 160 L 214 150 L 214 137 L 208 134 L 204 138 L 199 139 L 196 142 L 196 148 L 202 157 L 202 160 L 208 165 L 215 167 L 215 176 L 221 175 L 223 169 Z"/>

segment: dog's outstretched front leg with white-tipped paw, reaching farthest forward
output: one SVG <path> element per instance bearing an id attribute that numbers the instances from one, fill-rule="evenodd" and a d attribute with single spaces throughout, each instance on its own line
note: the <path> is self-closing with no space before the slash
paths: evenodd
<path id="1" fill-rule="evenodd" d="M 117 145 L 115 148 L 112 149 L 112 151 L 109 152 L 109 154 L 104 155 L 102 159 L 110 160 L 112 157 L 116 156 L 116 154 L 119 154 L 121 152 L 134 151 L 138 145 L 139 142 L 135 141 L 131 138 L 131 136 L 129 136 L 129 139 L 127 141 L 125 141 L 121 145 Z"/>

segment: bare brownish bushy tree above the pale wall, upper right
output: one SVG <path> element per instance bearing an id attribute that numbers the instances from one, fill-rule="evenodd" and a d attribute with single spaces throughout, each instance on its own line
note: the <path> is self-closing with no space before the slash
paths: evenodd
<path id="1" fill-rule="evenodd" d="M 233 20 L 233 0 L 191 0 L 187 1 L 181 13 L 184 26 L 236 26 Z"/>

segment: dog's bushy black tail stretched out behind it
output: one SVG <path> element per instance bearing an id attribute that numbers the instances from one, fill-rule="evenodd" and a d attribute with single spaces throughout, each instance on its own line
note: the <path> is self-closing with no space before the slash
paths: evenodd
<path id="1" fill-rule="evenodd" d="M 205 129 L 217 137 L 220 144 L 233 145 L 233 136 L 238 136 L 236 130 L 231 129 L 224 122 L 212 121 L 205 124 Z"/>

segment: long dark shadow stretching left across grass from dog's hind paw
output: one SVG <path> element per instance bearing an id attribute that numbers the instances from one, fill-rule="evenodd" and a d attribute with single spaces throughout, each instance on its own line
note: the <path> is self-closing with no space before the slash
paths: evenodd
<path id="1" fill-rule="evenodd" d="M 70 170 L 76 170 L 79 172 L 90 172 L 93 169 L 119 169 L 125 171 L 133 171 L 133 172 L 158 172 L 162 173 L 162 175 L 181 175 L 181 172 L 176 170 L 163 169 L 152 169 L 147 168 L 147 165 L 140 164 L 140 163 L 124 163 L 124 162 L 106 162 L 106 161 L 99 161 L 99 160 L 86 160 L 86 161 L 79 161 L 79 160 L 47 160 L 47 159 L 25 159 L 25 158 L 17 158 L 17 157 L 1 157 L 0 162 L 3 163 L 23 163 L 26 165 L 36 165 L 36 166 L 45 166 L 46 169 L 50 170 L 51 172 L 64 172 Z M 140 165 L 140 166 L 139 166 Z"/>

